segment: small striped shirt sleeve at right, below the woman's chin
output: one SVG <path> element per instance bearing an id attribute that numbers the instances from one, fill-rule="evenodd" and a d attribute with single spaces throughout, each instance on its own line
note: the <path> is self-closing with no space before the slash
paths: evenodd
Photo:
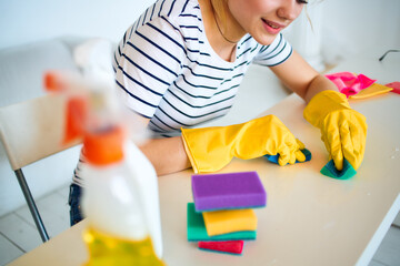
<path id="1" fill-rule="evenodd" d="M 263 45 L 254 57 L 253 62 L 267 66 L 274 66 L 283 63 L 292 54 L 293 49 L 279 33 L 270 45 Z"/>

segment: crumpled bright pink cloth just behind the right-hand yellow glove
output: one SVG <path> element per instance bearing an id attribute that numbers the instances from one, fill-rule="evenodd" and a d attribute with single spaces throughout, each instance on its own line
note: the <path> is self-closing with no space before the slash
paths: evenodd
<path id="1" fill-rule="evenodd" d="M 377 81 L 371 80 L 363 74 L 356 75 L 350 72 L 338 72 L 327 74 L 326 76 L 331 80 L 347 98 L 359 93 L 361 90 L 372 85 Z"/>

